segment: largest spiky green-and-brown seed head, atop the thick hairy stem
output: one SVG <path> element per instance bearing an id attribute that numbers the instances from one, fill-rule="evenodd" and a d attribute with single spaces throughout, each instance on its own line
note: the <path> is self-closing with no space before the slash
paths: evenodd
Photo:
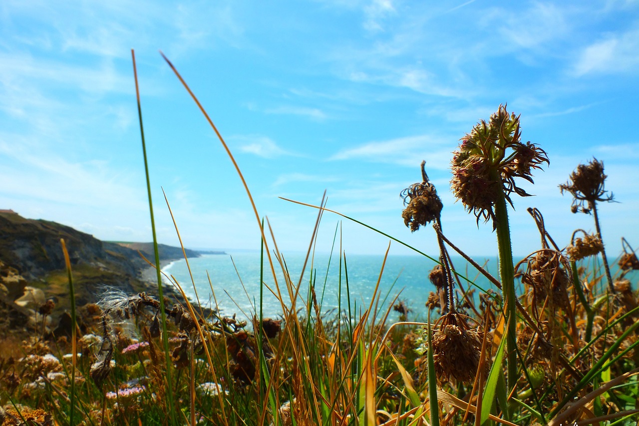
<path id="1" fill-rule="evenodd" d="M 539 146 L 521 142 L 520 117 L 509 114 L 503 105 L 488 122 L 477 123 L 461 140 L 453 152 L 450 187 L 477 221 L 493 219 L 493 206 L 502 196 L 511 204 L 511 193 L 529 196 L 514 178 L 533 183 L 532 170 L 541 169 L 543 162 L 550 163 Z"/>

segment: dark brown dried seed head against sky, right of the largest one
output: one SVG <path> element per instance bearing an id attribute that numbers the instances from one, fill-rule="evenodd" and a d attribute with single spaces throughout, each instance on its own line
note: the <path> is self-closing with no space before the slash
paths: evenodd
<path id="1" fill-rule="evenodd" d="M 562 194 L 568 191 L 573 194 L 573 213 L 581 210 L 590 213 L 593 203 L 596 201 L 613 201 L 613 194 L 606 196 L 604 190 L 603 162 L 593 158 L 588 164 L 580 164 L 577 170 L 569 176 L 566 184 L 559 185 Z"/>

